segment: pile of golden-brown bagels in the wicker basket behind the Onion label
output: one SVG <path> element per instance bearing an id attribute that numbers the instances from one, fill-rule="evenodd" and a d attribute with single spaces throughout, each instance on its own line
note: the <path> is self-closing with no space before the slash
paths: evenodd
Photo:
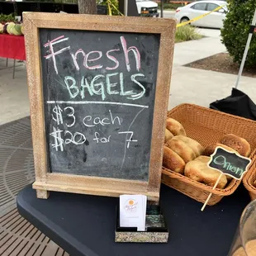
<path id="1" fill-rule="evenodd" d="M 183 174 L 187 178 L 213 187 L 220 172 L 209 168 L 207 163 L 217 146 L 245 157 L 249 157 L 251 152 L 249 142 L 233 134 L 223 135 L 216 144 L 207 145 L 204 148 L 199 142 L 187 136 L 181 123 L 168 117 L 165 129 L 163 166 L 167 170 Z M 230 179 L 229 176 L 222 175 L 217 188 L 225 188 Z"/>

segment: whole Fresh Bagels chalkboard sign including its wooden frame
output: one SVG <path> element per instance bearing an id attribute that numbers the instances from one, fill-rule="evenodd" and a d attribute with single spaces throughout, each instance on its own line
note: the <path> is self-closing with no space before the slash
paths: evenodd
<path id="1" fill-rule="evenodd" d="M 173 20 L 26 12 L 37 197 L 158 201 Z"/>

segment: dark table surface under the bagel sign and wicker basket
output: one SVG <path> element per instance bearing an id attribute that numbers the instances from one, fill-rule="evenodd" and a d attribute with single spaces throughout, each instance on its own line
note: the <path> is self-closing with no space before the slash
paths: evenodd
<path id="1" fill-rule="evenodd" d="M 225 256 L 249 203 L 242 185 L 203 212 L 200 202 L 164 185 L 160 198 L 168 223 L 168 244 L 115 243 L 118 198 L 50 192 L 49 199 L 37 199 L 30 185 L 19 192 L 17 208 L 72 256 Z"/>

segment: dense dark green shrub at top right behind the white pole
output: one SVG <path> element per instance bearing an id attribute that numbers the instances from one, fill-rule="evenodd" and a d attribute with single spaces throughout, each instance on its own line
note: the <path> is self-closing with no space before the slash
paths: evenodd
<path id="1" fill-rule="evenodd" d="M 249 36 L 249 26 L 252 23 L 256 8 L 255 0 L 229 0 L 229 12 L 226 14 L 223 29 L 221 30 L 222 42 L 233 57 L 240 63 L 243 59 L 244 48 Z M 245 66 L 256 67 L 256 36 L 254 34 Z"/>

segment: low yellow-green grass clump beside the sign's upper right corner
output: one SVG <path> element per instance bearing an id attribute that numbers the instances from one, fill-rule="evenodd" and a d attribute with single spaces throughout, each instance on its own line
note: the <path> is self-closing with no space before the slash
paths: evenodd
<path id="1" fill-rule="evenodd" d="M 179 26 L 176 30 L 175 42 L 178 43 L 188 40 L 197 40 L 201 39 L 202 37 L 203 36 L 197 33 L 197 29 L 193 26 Z"/>

